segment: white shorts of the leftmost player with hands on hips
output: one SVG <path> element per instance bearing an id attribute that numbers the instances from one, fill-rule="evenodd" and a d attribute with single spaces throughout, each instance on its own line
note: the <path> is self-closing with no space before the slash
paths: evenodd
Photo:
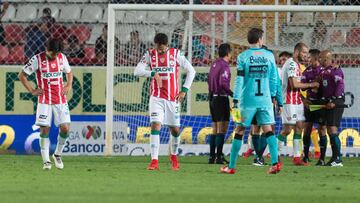
<path id="1" fill-rule="evenodd" d="M 36 110 L 36 125 L 51 126 L 52 115 L 54 123 L 58 127 L 61 124 L 70 123 L 70 112 L 68 104 L 38 104 Z"/>

